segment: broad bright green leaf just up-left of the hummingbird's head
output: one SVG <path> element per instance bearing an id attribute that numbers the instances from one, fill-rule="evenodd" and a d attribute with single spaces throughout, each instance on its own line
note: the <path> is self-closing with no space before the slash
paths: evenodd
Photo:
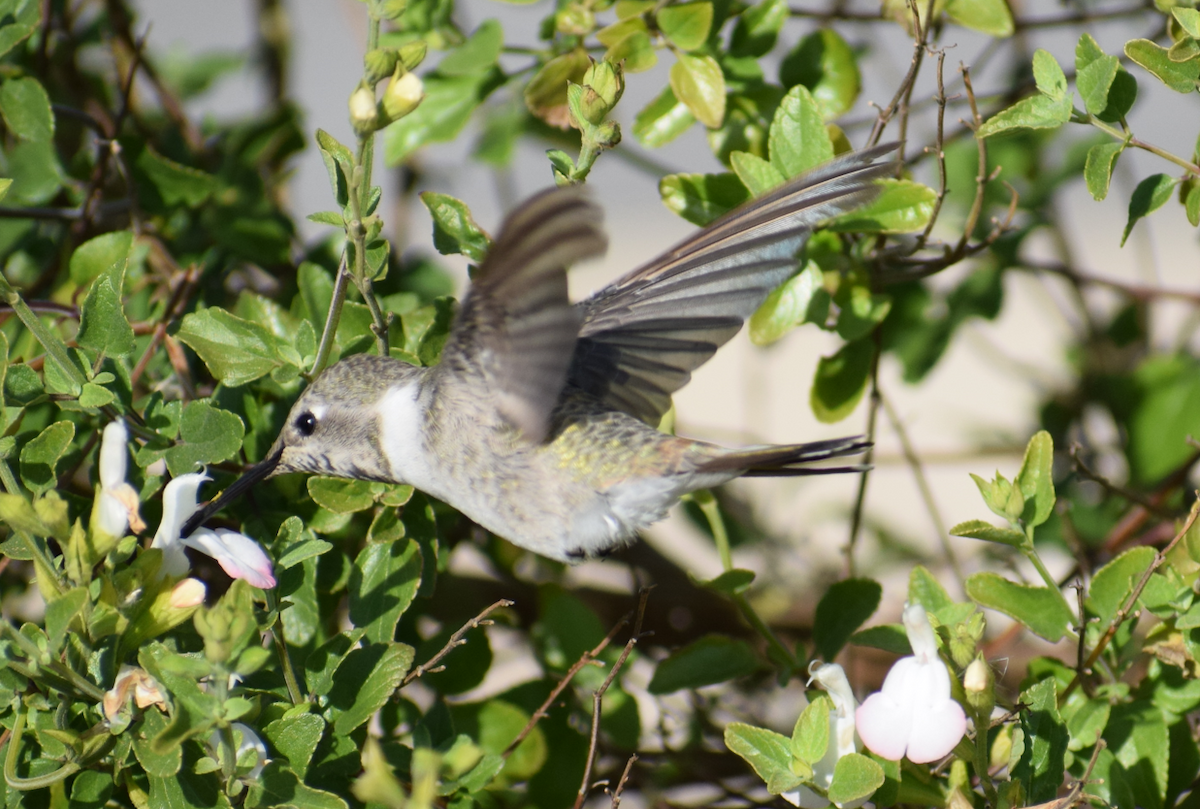
<path id="1" fill-rule="evenodd" d="M 257 323 L 216 306 L 184 317 L 175 336 L 200 355 L 214 377 L 230 388 L 253 382 L 284 364 L 283 341 Z"/>

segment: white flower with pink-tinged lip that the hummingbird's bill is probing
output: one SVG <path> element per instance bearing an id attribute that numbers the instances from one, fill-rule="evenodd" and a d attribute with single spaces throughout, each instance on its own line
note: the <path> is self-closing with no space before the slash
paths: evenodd
<path id="1" fill-rule="evenodd" d="M 162 550 L 162 571 L 170 576 L 185 575 L 190 565 L 184 546 L 208 553 L 233 579 L 245 579 L 254 587 L 275 587 L 271 561 L 250 537 L 235 531 L 199 528 L 180 538 L 184 523 L 197 510 L 196 495 L 209 477 L 194 472 L 179 475 L 162 492 L 162 522 L 150 547 Z"/>

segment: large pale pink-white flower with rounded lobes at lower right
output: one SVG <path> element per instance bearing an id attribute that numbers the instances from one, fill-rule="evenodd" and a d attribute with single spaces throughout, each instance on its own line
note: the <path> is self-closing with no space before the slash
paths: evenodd
<path id="1" fill-rule="evenodd" d="M 966 732 L 967 718 L 950 699 L 950 675 L 937 657 L 937 636 L 925 609 L 906 606 L 904 625 L 912 657 L 896 660 L 883 690 L 859 706 L 858 735 L 884 759 L 907 755 L 914 763 L 926 763 L 954 749 Z"/>

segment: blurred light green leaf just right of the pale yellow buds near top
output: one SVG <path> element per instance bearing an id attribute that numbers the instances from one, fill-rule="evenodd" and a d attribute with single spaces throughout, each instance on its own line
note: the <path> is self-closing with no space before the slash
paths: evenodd
<path id="1" fill-rule="evenodd" d="M 582 71 L 580 71 L 582 76 Z M 458 137 L 475 108 L 503 83 L 498 71 L 425 77 L 425 100 L 383 131 L 384 157 L 396 166 L 424 145 Z M 566 88 L 563 88 L 565 109 Z"/>

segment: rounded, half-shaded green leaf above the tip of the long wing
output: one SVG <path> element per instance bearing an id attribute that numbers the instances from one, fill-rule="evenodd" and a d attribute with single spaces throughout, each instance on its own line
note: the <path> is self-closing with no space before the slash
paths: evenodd
<path id="1" fill-rule="evenodd" d="M 808 88 L 826 121 L 848 112 L 863 89 L 853 48 L 832 28 L 817 29 L 797 42 L 779 66 L 779 80 L 785 88 Z"/>

